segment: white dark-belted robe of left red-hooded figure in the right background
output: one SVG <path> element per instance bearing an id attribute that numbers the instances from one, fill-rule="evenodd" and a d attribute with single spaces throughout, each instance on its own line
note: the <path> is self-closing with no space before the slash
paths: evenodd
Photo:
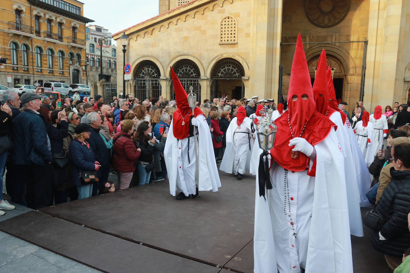
<path id="1" fill-rule="evenodd" d="M 367 126 L 363 126 L 363 121 L 360 120 L 356 123 L 355 128 L 356 130 L 356 139 L 358 141 L 360 150 L 362 151 L 362 155 L 364 157 L 364 161 L 366 162 L 367 167 L 370 167 L 371 162 L 374 161 L 374 154 L 373 154 L 373 124 L 371 122 L 367 122 Z M 370 140 L 370 142 L 367 141 Z"/>

